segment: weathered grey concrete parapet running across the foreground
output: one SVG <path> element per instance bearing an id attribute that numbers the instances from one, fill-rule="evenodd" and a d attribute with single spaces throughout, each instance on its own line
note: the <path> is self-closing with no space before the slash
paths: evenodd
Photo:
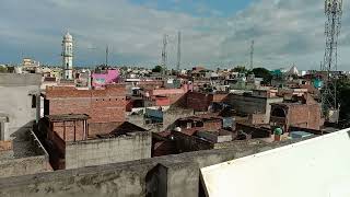
<path id="1" fill-rule="evenodd" d="M 198 197 L 199 167 L 289 144 L 236 144 L 142 161 L 0 178 L 0 196 L 186 196 Z M 273 185 L 273 184 L 272 184 Z M 271 186 L 271 185 L 270 185 Z M 270 188 L 269 186 L 269 188 Z M 203 195 L 201 193 L 201 195 Z"/>

